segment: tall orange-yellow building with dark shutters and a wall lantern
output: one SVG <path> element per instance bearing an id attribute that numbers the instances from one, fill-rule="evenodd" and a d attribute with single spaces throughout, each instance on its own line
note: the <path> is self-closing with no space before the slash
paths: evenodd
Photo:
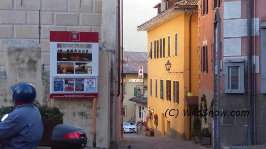
<path id="1" fill-rule="evenodd" d="M 155 136 L 190 139 L 193 117 L 184 111 L 198 108 L 198 1 L 169 4 L 161 1 L 155 8 L 162 12 L 138 26 L 148 34 L 148 108 L 153 111 L 148 127 Z M 187 92 L 194 96 L 187 97 Z"/>

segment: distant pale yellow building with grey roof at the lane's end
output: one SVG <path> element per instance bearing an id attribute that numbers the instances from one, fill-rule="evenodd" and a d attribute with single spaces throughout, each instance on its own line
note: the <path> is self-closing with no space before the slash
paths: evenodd
<path id="1" fill-rule="evenodd" d="M 147 53 L 124 52 L 123 64 L 123 121 L 137 122 L 139 109 L 146 109 L 143 105 L 137 105 L 129 101 L 130 98 L 147 95 Z M 143 79 L 139 79 L 139 66 L 143 66 Z"/>

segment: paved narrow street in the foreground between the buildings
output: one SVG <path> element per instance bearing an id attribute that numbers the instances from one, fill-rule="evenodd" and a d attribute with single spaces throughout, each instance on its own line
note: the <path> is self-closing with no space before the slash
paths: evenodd
<path id="1" fill-rule="evenodd" d="M 194 141 L 185 141 L 170 139 L 165 137 L 150 137 L 135 133 L 124 133 L 124 138 L 119 144 L 119 149 L 127 148 L 131 145 L 131 149 L 172 149 L 172 148 L 212 148 L 211 146 L 202 146 Z"/>

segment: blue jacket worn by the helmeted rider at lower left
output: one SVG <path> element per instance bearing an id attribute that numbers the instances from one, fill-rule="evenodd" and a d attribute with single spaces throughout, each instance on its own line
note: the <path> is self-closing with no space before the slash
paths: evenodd
<path id="1" fill-rule="evenodd" d="M 0 122 L 0 140 L 5 149 L 36 149 L 43 131 L 40 111 L 33 104 L 17 106 Z"/>

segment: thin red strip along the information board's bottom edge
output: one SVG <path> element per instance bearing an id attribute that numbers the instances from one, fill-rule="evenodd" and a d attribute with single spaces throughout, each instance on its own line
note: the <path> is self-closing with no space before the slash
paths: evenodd
<path id="1" fill-rule="evenodd" d="M 50 98 L 97 98 L 98 93 L 50 94 Z"/>

